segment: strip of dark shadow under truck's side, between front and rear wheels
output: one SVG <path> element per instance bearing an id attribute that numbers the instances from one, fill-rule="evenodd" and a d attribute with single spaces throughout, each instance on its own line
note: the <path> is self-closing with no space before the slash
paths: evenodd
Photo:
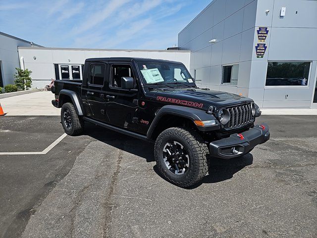
<path id="1" fill-rule="evenodd" d="M 89 135 L 96 140 L 102 141 L 117 149 L 126 151 L 144 158 L 147 162 L 154 162 L 154 144 L 136 139 L 134 137 L 106 129 L 92 123 L 85 123 L 83 134 Z"/>

